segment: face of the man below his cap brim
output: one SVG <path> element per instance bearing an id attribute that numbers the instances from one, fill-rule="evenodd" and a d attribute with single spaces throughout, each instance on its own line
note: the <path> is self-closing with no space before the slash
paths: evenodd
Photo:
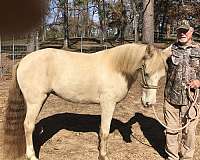
<path id="1" fill-rule="evenodd" d="M 178 29 L 177 30 L 177 39 L 181 44 L 190 43 L 192 40 L 193 28 L 190 27 L 189 30 L 187 29 Z"/>

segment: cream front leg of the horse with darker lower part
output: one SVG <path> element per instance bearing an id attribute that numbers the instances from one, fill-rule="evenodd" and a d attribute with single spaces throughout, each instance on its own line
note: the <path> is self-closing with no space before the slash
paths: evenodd
<path id="1" fill-rule="evenodd" d="M 103 100 L 101 103 L 101 126 L 99 133 L 99 160 L 108 160 L 107 140 L 110 131 L 110 124 L 115 109 L 116 102 Z"/>

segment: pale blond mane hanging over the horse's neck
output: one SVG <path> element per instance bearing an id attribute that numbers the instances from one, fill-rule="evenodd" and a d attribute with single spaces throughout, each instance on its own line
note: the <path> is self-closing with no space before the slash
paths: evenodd
<path id="1" fill-rule="evenodd" d="M 111 55 L 111 63 L 115 70 L 123 74 L 132 74 L 144 57 L 147 45 L 125 44 L 107 51 Z"/>

